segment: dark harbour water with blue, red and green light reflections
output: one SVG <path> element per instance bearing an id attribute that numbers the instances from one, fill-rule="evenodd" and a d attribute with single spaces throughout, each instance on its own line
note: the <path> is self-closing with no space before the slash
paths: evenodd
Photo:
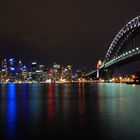
<path id="1" fill-rule="evenodd" d="M 140 86 L 0 85 L 0 140 L 140 139 Z"/>

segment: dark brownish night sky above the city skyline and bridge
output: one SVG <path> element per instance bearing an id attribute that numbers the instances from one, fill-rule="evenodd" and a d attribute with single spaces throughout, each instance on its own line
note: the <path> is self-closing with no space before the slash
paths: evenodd
<path id="1" fill-rule="evenodd" d="M 3 0 L 0 60 L 94 69 L 120 28 L 138 15 L 139 0 Z"/>

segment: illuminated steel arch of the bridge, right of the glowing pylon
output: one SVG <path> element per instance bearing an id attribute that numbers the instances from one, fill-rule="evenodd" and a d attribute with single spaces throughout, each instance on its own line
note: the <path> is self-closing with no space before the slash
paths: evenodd
<path id="1" fill-rule="evenodd" d="M 130 47 L 130 43 L 137 43 L 140 45 L 140 16 L 129 21 L 121 30 L 117 33 L 113 39 L 107 54 L 104 59 L 104 66 L 110 66 L 121 59 L 125 59 L 126 55 L 130 57 L 131 53 L 140 53 L 140 46 L 136 45 L 135 48 Z M 131 41 L 130 41 L 131 40 Z M 132 44 L 131 44 L 132 46 Z M 126 49 L 129 47 L 129 50 Z M 128 52 L 127 52 L 128 50 Z"/>

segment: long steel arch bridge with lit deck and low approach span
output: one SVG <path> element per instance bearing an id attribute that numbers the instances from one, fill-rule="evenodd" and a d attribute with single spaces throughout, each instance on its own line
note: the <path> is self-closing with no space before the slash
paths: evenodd
<path id="1" fill-rule="evenodd" d="M 115 65 L 119 65 L 122 62 L 128 60 L 134 60 L 140 56 L 140 16 L 129 21 L 121 30 L 117 33 L 113 39 L 103 65 L 99 68 L 101 71 L 105 69 L 113 68 Z M 97 70 L 88 73 L 86 76 L 93 75 Z M 103 72 L 102 72 L 103 73 Z"/>

